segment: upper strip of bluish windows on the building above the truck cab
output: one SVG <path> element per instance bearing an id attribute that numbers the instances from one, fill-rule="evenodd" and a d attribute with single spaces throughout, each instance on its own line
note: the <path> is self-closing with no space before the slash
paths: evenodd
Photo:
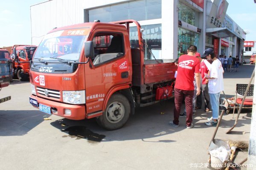
<path id="1" fill-rule="evenodd" d="M 137 0 L 89 10 L 89 22 L 113 22 L 119 20 L 153 20 L 162 17 L 161 0 Z"/>

